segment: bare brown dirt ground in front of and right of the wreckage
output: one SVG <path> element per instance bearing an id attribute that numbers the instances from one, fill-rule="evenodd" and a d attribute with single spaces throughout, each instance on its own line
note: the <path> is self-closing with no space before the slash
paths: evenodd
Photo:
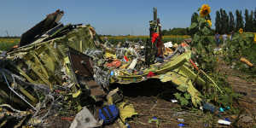
<path id="1" fill-rule="evenodd" d="M 138 115 L 128 121 L 131 128 L 178 128 L 184 127 L 256 127 L 256 82 L 255 78 L 245 79 L 247 75 L 232 69 L 223 62 L 219 63 L 218 70 L 227 76 L 233 90 L 242 96 L 235 106 L 241 108 L 241 113 L 224 112 L 221 116 L 210 112 L 203 112 L 195 108 L 181 108 L 178 103 L 171 102 L 177 92 L 172 83 L 160 83 L 159 80 L 149 79 L 139 84 L 113 84 L 119 86 L 125 96 L 124 100 L 131 103 Z M 156 86 L 157 85 L 157 86 Z M 148 119 L 156 117 L 160 124 L 148 123 Z M 218 125 L 218 119 L 228 118 L 236 125 Z M 183 122 L 177 119 L 184 119 Z M 50 127 L 69 127 L 72 121 L 55 117 Z M 116 128 L 118 123 L 106 125 L 107 128 Z"/>

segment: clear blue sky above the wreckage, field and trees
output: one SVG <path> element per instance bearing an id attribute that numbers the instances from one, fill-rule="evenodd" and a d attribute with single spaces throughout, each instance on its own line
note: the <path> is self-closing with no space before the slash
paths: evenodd
<path id="1" fill-rule="evenodd" d="M 0 36 L 20 36 L 61 9 L 64 24 L 90 24 L 99 34 L 148 35 L 148 21 L 156 7 L 163 29 L 189 27 L 191 15 L 207 3 L 211 7 L 212 27 L 216 11 L 254 10 L 256 0 L 1 0 Z"/>

